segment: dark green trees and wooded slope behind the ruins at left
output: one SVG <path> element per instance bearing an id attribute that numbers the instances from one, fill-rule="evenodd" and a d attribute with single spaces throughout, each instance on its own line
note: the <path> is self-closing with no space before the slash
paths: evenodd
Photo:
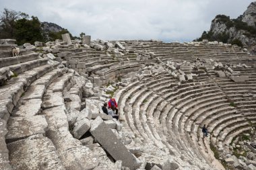
<path id="1" fill-rule="evenodd" d="M 0 13 L 0 39 L 13 38 L 17 40 L 18 45 L 25 42 L 34 44 L 35 41 L 53 41 L 61 39 L 61 34 L 69 33 L 68 30 L 61 30 L 60 32 L 44 31 L 42 26 L 43 24 L 38 17 L 30 17 L 27 13 L 7 8 Z M 71 34 L 70 37 L 71 39 L 74 38 Z"/>

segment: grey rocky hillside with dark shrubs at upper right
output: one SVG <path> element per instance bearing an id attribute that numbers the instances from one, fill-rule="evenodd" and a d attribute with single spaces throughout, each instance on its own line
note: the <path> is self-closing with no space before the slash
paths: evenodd
<path id="1" fill-rule="evenodd" d="M 207 39 L 224 43 L 237 44 L 256 52 L 256 2 L 247 7 L 247 10 L 236 19 L 226 15 L 217 15 L 212 20 L 210 31 L 203 32 L 198 41 Z"/>

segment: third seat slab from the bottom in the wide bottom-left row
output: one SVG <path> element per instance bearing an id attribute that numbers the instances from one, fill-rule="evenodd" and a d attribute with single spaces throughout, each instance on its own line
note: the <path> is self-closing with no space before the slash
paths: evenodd
<path id="1" fill-rule="evenodd" d="M 35 116 L 40 113 L 42 99 L 23 100 L 17 109 L 13 110 L 11 116 Z"/>

